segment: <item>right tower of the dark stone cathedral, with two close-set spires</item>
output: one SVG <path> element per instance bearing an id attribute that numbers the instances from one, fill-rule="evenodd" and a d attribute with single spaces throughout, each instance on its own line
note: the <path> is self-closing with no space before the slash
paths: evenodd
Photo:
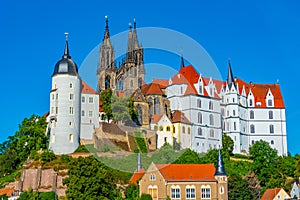
<path id="1" fill-rule="evenodd" d="M 137 88 L 142 86 L 145 78 L 144 50 L 138 41 L 135 20 L 133 30 L 131 24 L 129 25 L 128 44 L 124 67 L 126 69 L 126 73 L 123 77 L 123 90 L 124 94 L 129 96 Z"/>

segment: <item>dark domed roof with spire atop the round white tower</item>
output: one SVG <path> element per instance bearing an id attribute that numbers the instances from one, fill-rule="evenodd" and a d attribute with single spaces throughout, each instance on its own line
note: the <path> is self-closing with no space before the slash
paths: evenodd
<path id="1" fill-rule="evenodd" d="M 69 55 L 68 41 L 66 41 L 64 55 L 62 56 L 62 59 L 56 63 L 52 76 L 57 74 L 78 76 L 78 67 Z"/>

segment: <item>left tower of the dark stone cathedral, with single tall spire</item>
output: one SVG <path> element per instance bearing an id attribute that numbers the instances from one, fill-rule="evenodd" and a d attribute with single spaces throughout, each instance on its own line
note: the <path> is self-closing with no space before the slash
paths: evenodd
<path id="1" fill-rule="evenodd" d="M 106 26 L 104 32 L 104 38 L 100 46 L 100 56 L 97 69 L 98 76 L 98 92 L 105 89 L 116 88 L 116 73 L 115 73 L 115 63 L 114 63 L 114 48 L 112 46 L 109 27 L 108 27 L 108 17 L 106 18 Z"/>

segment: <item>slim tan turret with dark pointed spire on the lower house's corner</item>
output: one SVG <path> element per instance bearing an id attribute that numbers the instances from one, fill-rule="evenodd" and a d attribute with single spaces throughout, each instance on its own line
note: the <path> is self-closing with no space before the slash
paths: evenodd
<path id="1" fill-rule="evenodd" d="M 218 153 L 218 161 L 216 166 L 216 172 L 215 172 L 215 179 L 218 181 L 218 187 L 217 187 L 217 196 L 218 199 L 227 200 L 228 199 L 228 180 L 227 180 L 227 174 L 224 167 L 224 162 L 222 159 L 222 154 L 219 149 Z"/>

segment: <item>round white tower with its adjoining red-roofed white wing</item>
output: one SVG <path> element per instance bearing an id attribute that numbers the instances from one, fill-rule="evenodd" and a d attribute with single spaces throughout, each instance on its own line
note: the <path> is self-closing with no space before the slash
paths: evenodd
<path id="1" fill-rule="evenodd" d="M 64 55 L 52 75 L 49 149 L 55 154 L 73 153 L 80 139 L 92 139 L 94 128 L 99 127 L 98 117 L 99 96 L 81 80 L 66 41 Z"/>

